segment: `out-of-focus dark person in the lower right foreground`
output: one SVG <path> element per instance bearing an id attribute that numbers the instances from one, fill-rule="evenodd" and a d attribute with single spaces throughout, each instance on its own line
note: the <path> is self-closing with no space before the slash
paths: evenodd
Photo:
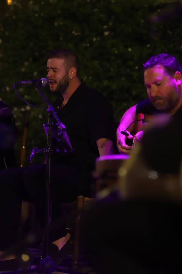
<path id="1" fill-rule="evenodd" d="M 99 274 L 182 272 L 181 121 L 182 113 L 146 130 L 119 169 L 119 198 L 84 209 L 83 244 Z"/>

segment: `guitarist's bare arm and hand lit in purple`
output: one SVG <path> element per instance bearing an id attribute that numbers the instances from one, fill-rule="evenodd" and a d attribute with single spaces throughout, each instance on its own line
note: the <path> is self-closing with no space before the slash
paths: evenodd
<path id="1" fill-rule="evenodd" d="M 134 129 L 134 123 L 130 126 L 132 122 L 136 120 L 136 105 L 130 107 L 122 116 L 120 124 L 117 128 L 117 148 L 120 153 L 128 153 L 131 146 L 126 145 L 126 139 L 133 139 L 133 136 L 130 134 Z M 130 126 L 130 127 L 129 127 Z M 128 128 L 129 127 L 129 128 Z M 128 128 L 127 133 L 128 136 L 121 133 L 121 131 L 126 130 Z"/>

